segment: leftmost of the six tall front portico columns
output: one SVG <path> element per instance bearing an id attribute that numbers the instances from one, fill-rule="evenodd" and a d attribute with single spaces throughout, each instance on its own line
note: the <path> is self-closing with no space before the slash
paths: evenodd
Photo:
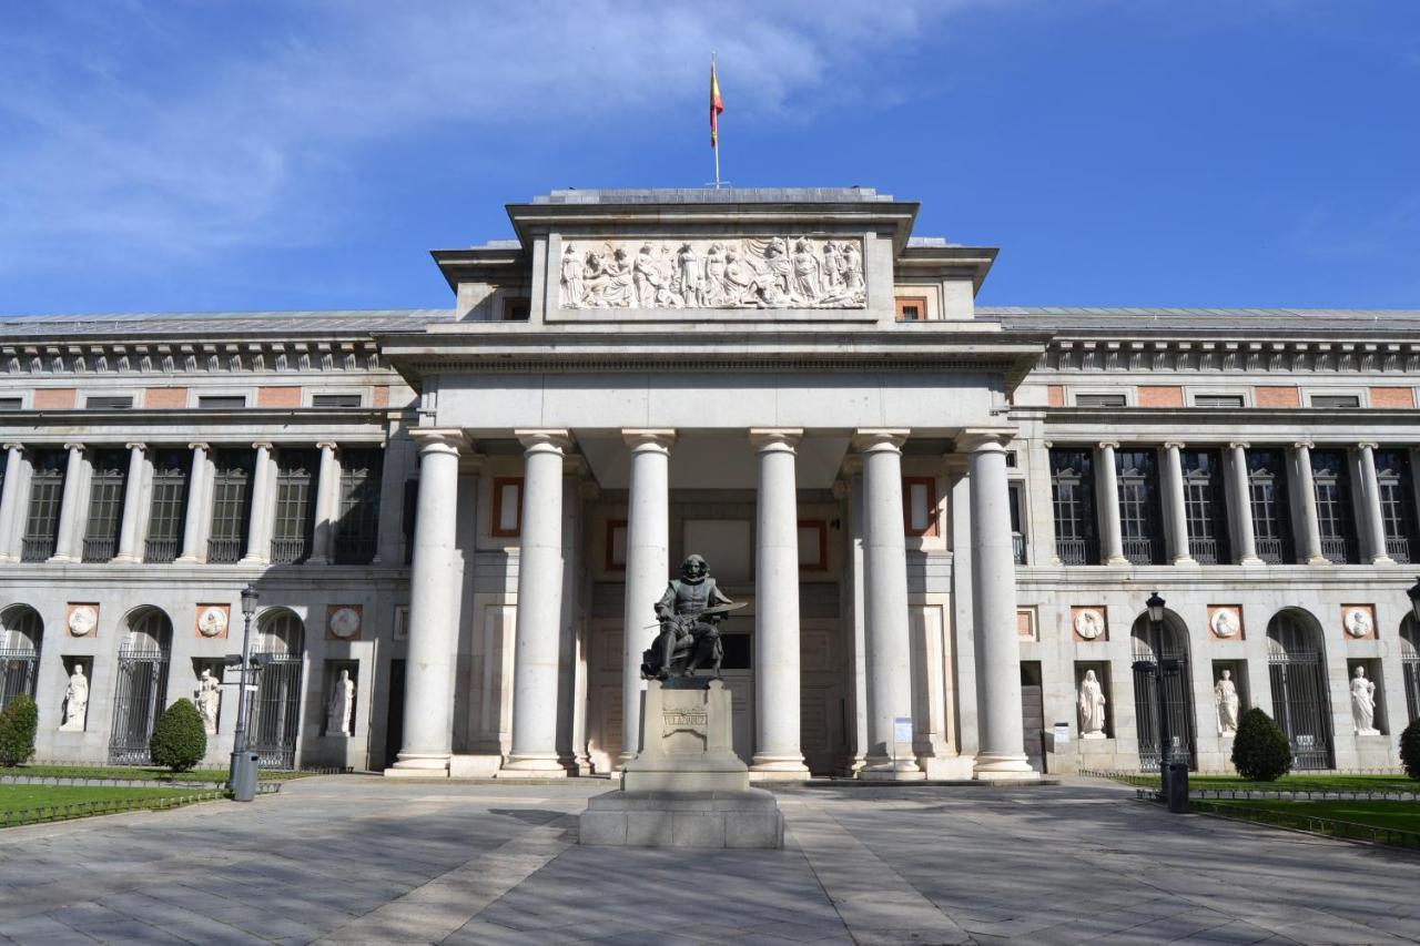
<path id="1" fill-rule="evenodd" d="M 409 649 L 405 655 L 405 744 L 386 774 L 443 776 L 453 754 L 453 660 L 459 649 L 459 449 L 463 430 L 415 428 L 419 501 L 409 574 Z"/>

